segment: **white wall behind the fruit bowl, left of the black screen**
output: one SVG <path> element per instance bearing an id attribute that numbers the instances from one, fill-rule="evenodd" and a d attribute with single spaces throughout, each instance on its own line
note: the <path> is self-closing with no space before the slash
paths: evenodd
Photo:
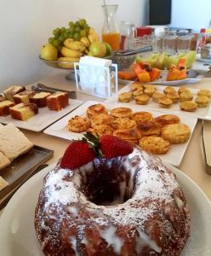
<path id="1" fill-rule="evenodd" d="M 145 24 L 147 0 L 119 0 L 117 18 Z M 42 44 L 54 27 L 85 18 L 101 32 L 102 5 L 99 0 L 0 0 L 0 89 L 9 84 L 30 84 L 59 72 L 38 60 Z"/>

